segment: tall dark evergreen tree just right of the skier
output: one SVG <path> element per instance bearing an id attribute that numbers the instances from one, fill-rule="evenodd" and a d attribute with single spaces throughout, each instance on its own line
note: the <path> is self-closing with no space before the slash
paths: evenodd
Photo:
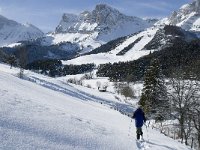
<path id="1" fill-rule="evenodd" d="M 139 104 L 145 113 L 156 120 L 163 120 L 169 108 L 167 89 L 161 67 L 157 59 L 153 59 L 145 71 L 144 87 Z"/>

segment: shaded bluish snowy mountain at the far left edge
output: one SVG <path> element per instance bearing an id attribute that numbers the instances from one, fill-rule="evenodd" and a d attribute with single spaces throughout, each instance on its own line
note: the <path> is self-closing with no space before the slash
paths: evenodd
<path id="1" fill-rule="evenodd" d="M 0 46 L 36 39 L 43 35 L 41 30 L 31 24 L 23 25 L 0 15 Z"/>

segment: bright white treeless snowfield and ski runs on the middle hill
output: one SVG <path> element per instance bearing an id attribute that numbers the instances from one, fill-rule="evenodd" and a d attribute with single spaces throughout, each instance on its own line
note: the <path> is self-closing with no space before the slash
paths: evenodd
<path id="1" fill-rule="evenodd" d="M 144 50 L 143 48 L 153 39 L 157 31 L 158 28 L 154 27 L 148 28 L 147 30 L 142 31 L 138 34 L 128 36 L 128 38 L 125 41 L 123 41 L 116 48 L 112 49 L 107 53 L 98 53 L 98 54 L 80 56 L 72 60 L 63 61 L 63 64 L 80 65 L 80 64 L 94 63 L 99 65 L 109 62 L 114 63 L 119 61 L 136 60 L 150 53 L 149 50 Z M 122 50 L 124 50 L 132 43 L 133 46 L 124 55 L 118 55 Z"/>

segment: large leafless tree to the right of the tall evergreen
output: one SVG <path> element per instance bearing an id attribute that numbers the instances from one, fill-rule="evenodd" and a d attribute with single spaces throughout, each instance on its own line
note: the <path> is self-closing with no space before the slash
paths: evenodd
<path id="1" fill-rule="evenodd" d="M 172 78 L 169 80 L 168 97 L 171 102 L 174 117 L 178 119 L 180 126 L 180 138 L 188 145 L 191 133 L 192 116 L 190 110 L 195 108 L 199 100 L 200 87 L 195 80 L 183 80 L 183 78 Z"/>

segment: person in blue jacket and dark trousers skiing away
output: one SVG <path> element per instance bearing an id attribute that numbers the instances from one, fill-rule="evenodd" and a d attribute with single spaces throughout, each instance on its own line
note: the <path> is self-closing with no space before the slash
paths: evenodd
<path id="1" fill-rule="evenodd" d="M 137 108 L 132 118 L 135 119 L 136 134 L 137 134 L 137 139 L 139 140 L 140 135 L 143 136 L 142 126 L 146 122 L 146 118 L 141 106 Z"/>

